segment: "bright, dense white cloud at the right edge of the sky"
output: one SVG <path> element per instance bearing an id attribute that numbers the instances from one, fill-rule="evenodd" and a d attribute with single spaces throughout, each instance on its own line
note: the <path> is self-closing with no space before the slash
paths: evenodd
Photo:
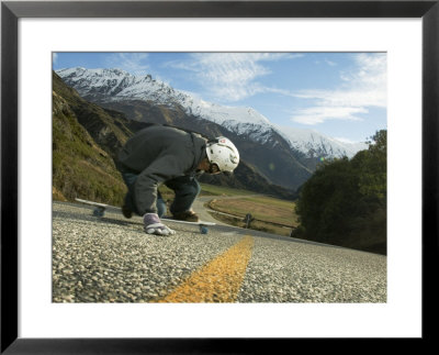
<path id="1" fill-rule="evenodd" d="M 358 54 L 354 67 L 340 74 L 342 85 L 334 90 L 303 90 L 292 96 L 311 101 L 293 112 L 291 120 L 317 124 L 327 120 L 361 120 L 368 107 L 386 108 L 386 55 Z"/>

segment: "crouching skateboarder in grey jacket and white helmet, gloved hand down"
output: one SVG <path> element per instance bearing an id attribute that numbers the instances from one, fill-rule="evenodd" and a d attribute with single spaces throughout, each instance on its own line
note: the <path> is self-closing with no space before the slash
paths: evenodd
<path id="1" fill-rule="evenodd" d="M 238 164 L 239 153 L 226 137 L 207 141 L 200 134 L 162 125 L 143 129 L 119 154 L 117 169 L 128 188 L 122 213 L 125 218 L 142 215 L 148 234 L 173 234 L 160 221 L 166 203 L 158 186 L 165 184 L 175 191 L 170 206 L 175 219 L 198 222 L 191 209 L 200 193 L 196 177 L 232 173 Z"/>

